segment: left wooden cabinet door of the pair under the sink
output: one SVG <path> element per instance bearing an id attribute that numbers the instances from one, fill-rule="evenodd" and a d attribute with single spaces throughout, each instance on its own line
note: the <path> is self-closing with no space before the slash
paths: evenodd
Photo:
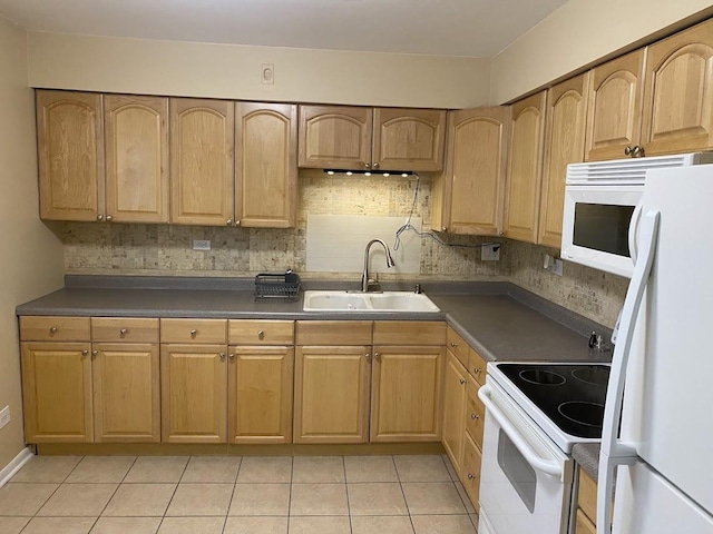
<path id="1" fill-rule="evenodd" d="M 371 347 L 297 347 L 294 442 L 367 443 Z"/>

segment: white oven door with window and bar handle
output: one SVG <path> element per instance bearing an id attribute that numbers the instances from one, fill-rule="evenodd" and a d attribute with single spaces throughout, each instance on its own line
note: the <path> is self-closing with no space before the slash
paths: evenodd
<path id="1" fill-rule="evenodd" d="M 478 392 L 487 417 L 478 532 L 566 534 L 573 461 L 491 379 Z"/>

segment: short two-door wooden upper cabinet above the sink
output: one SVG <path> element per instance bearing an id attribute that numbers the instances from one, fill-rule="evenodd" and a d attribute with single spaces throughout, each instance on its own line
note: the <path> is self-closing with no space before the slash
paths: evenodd
<path id="1" fill-rule="evenodd" d="M 436 171 L 446 111 L 300 106 L 300 167 Z"/>

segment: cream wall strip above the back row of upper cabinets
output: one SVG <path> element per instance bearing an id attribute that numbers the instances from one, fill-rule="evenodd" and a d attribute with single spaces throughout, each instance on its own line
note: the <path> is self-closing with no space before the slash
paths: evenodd
<path id="1" fill-rule="evenodd" d="M 30 86 L 367 106 L 488 101 L 490 61 L 28 32 Z M 261 66 L 273 63 L 274 85 Z"/>

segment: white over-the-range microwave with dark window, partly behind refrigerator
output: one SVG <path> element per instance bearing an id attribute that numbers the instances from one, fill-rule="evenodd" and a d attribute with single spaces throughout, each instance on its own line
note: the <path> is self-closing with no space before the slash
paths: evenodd
<path id="1" fill-rule="evenodd" d="M 561 258 L 631 278 L 636 247 L 628 230 L 646 170 L 712 162 L 713 152 L 695 152 L 568 165 Z"/>

